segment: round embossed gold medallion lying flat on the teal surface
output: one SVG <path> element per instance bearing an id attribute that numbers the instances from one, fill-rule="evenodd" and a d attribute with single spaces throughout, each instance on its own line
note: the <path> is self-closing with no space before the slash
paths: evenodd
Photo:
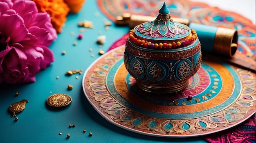
<path id="1" fill-rule="evenodd" d="M 71 103 L 71 101 L 72 101 L 72 98 L 69 95 L 63 94 L 63 93 L 56 93 L 56 94 L 50 95 L 47 98 L 46 103 L 49 106 L 62 107 L 62 106 L 67 106 L 68 104 Z"/>

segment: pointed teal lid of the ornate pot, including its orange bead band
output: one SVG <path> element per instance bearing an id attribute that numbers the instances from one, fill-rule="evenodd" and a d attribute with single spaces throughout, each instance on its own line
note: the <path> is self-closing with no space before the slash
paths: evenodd
<path id="1" fill-rule="evenodd" d="M 129 37 L 136 45 L 162 49 L 184 47 L 192 43 L 197 35 L 189 26 L 174 22 L 164 2 L 157 18 L 135 26 Z"/>

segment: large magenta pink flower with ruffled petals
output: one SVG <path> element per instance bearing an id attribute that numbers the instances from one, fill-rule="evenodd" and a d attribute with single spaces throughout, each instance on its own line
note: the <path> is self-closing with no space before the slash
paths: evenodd
<path id="1" fill-rule="evenodd" d="M 31 0 L 0 0 L 0 83 L 35 82 L 54 61 L 48 46 L 57 38 L 48 13 Z"/>

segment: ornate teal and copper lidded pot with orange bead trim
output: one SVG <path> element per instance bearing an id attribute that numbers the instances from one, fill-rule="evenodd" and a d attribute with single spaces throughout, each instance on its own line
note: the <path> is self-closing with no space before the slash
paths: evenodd
<path id="1" fill-rule="evenodd" d="M 124 64 L 144 91 L 180 91 L 200 68 L 201 45 L 195 30 L 173 22 L 165 3 L 155 21 L 129 33 Z"/>

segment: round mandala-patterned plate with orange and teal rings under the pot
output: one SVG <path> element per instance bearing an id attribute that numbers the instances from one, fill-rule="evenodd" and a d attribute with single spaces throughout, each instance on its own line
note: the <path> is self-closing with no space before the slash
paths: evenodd
<path id="1" fill-rule="evenodd" d="M 226 130 L 255 113 L 255 74 L 249 71 L 203 58 L 182 91 L 147 93 L 126 71 L 124 49 L 107 52 L 83 76 L 86 98 L 116 126 L 150 136 L 195 137 Z"/>

